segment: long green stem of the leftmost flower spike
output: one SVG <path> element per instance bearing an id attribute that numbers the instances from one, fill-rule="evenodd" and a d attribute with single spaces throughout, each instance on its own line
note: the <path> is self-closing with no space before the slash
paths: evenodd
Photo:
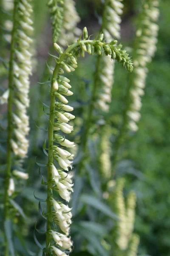
<path id="1" fill-rule="evenodd" d="M 10 52 L 10 61 L 9 61 L 9 73 L 8 73 L 8 89 L 9 89 L 9 97 L 8 97 L 8 135 L 7 135 L 7 169 L 6 169 L 6 178 L 5 178 L 5 200 L 4 200 L 4 222 L 7 218 L 9 218 L 8 211 L 9 211 L 9 195 L 8 195 L 8 188 L 9 188 L 9 180 L 11 177 L 11 137 L 12 137 L 12 96 L 13 96 L 13 61 L 14 61 L 14 50 L 15 50 L 15 32 L 17 29 L 17 3 L 18 0 L 14 1 L 14 12 L 13 12 L 13 29 L 11 33 L 11 52 Z M 5 256 L 8 256 L 9 253 L 9 245 L 7 238 L 6 241 L 6 250 Z"/>

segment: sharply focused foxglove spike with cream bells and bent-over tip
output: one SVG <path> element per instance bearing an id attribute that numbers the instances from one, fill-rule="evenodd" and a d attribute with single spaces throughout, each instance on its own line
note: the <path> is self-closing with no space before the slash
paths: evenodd
<path id="1" fill-rule="evenodd" d="M 56 58 L 56 66 L 53 71 L 53 76 L 50 81 L 50 113 L 48 126 L 48 179 L 47 179 L 47 230 L 46 230 L 46 255 L 55 254 L 57 256 L 65 256 L 65 250 L 71 251 L 72 242 L 69 235 L 69 226 L 71 224 L 71 209 L 63 203 L 69 202 L 71 192 L 73 191 L 72 175 L 67 174 L 69 168 L 72 169 L 72 160 L 74 155 L 65 148 L 73 148 L 74 142 L 69 141 L 65 136 L 59 134 L 62 131 L 65 134 L 70 134 L 73 127 L 68 124 L 75 116 L 69 111 L 73 108 L 67 105 L 68 99 L 65 96 L 71 96 L 73 93 L 71 85 L 65 76 L 64 72 L 70 73 L 77 67 L 77 57 L 85 55 L 88 52 L 91 55 L 110 55 L 112 59 L 116 59 L 119 63 L 129 70 L 133 70 L 131 59 L 122 46 L 115 44 L 116 40 L 109 44 L 105 43 L 103 34 L 99 35 L 96 40 L 88 39 L 88 31 L 86 27 L 83 29 L 83 40 L 79 38 L 77 43 L 74 43 L 62 52 L 58 44 L 54 43 L 54 48 L 59 53 Z M 57 100 L 56 100 L 57 98 Z M 68 111 L 68 112 L 67 112 Z M 45 152 L 47 154 L 47 152 Z M 57 169 L 54 165 L 54 160 L 60 166 Z M 54 199 L 54 193 L 60 196 L 59 201 Z M 57 227 L 58 226 L 58 227 Z"/>

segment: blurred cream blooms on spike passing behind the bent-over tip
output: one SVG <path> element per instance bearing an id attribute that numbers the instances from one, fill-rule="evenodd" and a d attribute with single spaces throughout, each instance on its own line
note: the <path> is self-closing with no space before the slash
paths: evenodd
<path id="1" fill-rule="evenodd" d="M 120 23 L 123 4 L 122 0 L 110 0 L 106 2 L 105 12 L 103 14 L 102 32 L 106 42 L 110 42 L 113 38 L 120 38 Z M 109 103 L 111 103 L 111 91 L 114 75 L 114 61 L 111 58 L 104 56 L 100 63 L 100 74 L 98 83 L 100 84 L 99 96 L 97 105 L 102 111 L 109 111 Z"/>

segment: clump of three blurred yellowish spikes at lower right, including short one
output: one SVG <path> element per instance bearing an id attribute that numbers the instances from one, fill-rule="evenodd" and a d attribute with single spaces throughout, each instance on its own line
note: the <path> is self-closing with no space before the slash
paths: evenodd
<path id="1" fill-rule="evenodd" d="M 127 195 L 127 202 L 125 203 L 125 198 L 123 195 L 124 186 L 125 180 L 123 178 L 117 179 L 116 186 L 113 190 L 113 195 L 111 195 L 113 208 L 119 217 L 119 221 L 117 222 L 113 233 L 118 252 L 120 253 L 121 251 L 125 251 L 125 255 L 136 256 L 137 247 L 139 244 L 139 237 L 136 234 L 133 234 L 136 194 L 133 191 L 130 191 L 130 193 Z"/>

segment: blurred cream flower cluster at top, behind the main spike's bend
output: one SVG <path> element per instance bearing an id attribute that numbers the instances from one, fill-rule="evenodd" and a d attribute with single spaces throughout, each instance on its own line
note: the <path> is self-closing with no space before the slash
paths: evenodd
<path id="1" fill-rule="evenodd" d="M 65 47 L 66 43 L 72 44 L 76 41 L 82 32 L 81 29 L 77 28 L 79 22 L 80 17 L 76 11 L 74 0 L 65 0 L 61 36 L 58 40 L 59 45 Z"/>

